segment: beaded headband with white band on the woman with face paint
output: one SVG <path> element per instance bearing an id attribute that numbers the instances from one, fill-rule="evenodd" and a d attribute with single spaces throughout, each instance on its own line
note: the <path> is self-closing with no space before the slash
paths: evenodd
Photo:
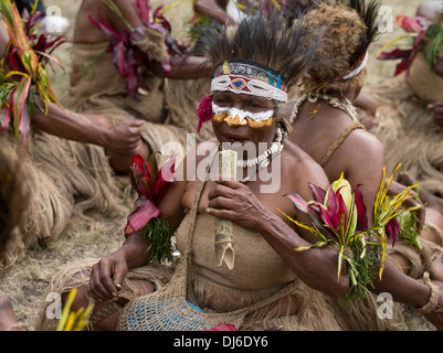
<path id="1" fill-rule="evenodd" d="M 215 67 L 211 90 L 246 94 L 287 101 L 286 81 L 276 71 L 245 60 L 231 60 Z"/>

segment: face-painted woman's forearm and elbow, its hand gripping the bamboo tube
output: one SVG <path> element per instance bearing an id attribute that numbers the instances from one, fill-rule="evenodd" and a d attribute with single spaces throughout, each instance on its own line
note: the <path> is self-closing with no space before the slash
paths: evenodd
<path id="1" fill-rule="evenodd" d="M 295 275 L 309 287 L 336 299 L 346 292 L 349 287 L 346 266 L 341 267 L 338 280 L 338 255 L 334 249 L 324 247 L 295 252 L 295 248 L 312 244 L 302 238 L 276 215 L 262 222 L 259 232 L 288 264 Z"/>

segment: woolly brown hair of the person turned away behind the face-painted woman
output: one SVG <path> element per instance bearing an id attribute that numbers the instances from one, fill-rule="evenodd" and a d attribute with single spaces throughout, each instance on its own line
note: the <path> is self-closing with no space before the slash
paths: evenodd
<path id="1" fill-rule="evenodd" d="M 351 79 L 340 79 L 361 62 L 369 45 L 379 34 L 379 0 L 312 0 L 304 17 L 306 31 L 323 28 L 323 46 L 317 52 L 320 65 L 309 72 L 314 81 L 307 90 L 347 90 L 362 86 L 363 69 Z"/>

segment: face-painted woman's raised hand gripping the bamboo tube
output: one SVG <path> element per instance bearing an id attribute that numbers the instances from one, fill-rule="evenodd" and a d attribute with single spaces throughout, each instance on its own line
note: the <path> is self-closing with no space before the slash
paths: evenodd
<path id="1" fill-rule="evenodd" d="M 210 215 L 232 221 L 246 229 L 256 229 L 272 216 L 251 190 L 238 181 L 217 181 L 208 196 Z"/>

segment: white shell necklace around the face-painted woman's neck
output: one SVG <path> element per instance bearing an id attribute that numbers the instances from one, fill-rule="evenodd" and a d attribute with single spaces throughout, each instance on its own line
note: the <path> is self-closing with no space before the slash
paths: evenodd
<path id="1" fill-rule="evenodd" d="M 278 125 L 277 130 L 275 131 L 275 140 L 272 142 L 271 147 L 260 153 L 255 158 L 249 158 L 249 159 L 240 159 L 236 161 L 236 165 L 239 168 L 255 168 L 255 171 L 242 179 L 240 182 L 246 183 L 251 180 L 252 176 L 254 176 L 256 173 L 259 173 L 262 169 L 266 168 L 270 165 L 271 161 L 277 157 L 279 153 L 282 153 L 283 148 L 285 146 L 285 139 L 287 137 L 287 131 Z M 221 149 L 221 146 L 220 146 Z"/>

